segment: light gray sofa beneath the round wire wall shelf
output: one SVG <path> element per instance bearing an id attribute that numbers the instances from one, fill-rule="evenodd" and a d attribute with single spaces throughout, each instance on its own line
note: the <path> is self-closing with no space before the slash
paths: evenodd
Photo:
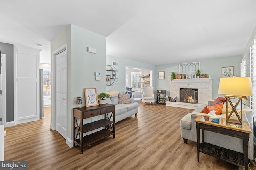
<path id="1" fill-rule="evenodd" d="M 134 103 L 134 99 L 130 98 L 130 103 L 128 104 L 118 104 L 119 98 L 118 94 L 119 92 L 116 90 L 112 90 L 110 92 L 107 92 L 107 94 L 110 95 L 110 98 L 107 98 L 107 103 L 114 104 L 115 105 L 115 123 L 118 121 L 121 121 L 123 119 L 126 119 L 127 117 L 130 117 L 131 115 L 137 115 L 138 113 L 138 103 Z M 113 119 L 112 119 L 113 121 Z"/>

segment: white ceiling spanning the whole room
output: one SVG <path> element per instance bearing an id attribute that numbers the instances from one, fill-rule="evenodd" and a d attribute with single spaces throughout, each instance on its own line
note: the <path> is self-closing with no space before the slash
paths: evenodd
<path id="1" fill-rule="evenodd" d="M 107 55 L 160 65 L 242 55 L 256 0 L 0 0 L 0 42 L 40 49 L 69 24 L 107 37 Z"/>

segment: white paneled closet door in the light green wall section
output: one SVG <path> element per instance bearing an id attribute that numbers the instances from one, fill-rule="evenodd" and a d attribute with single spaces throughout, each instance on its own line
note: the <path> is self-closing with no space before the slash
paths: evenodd
<path id="1" fill-rule="evenodd" d="M 67 137 L 67 54 L 66 50 L 57 54 L 56 68 L 56 131 Z"/>

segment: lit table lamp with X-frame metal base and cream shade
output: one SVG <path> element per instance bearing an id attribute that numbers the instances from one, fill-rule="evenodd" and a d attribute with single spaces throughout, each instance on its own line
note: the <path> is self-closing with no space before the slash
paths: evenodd
<path id="1" fill-rule="evenodd" d="M 223 77 L 220 78 L 218 94 L 226 95 L 226 121 L 230 123 L 243 124 L 243 113 L 242 113 L 242 96 L 252 96 L 252 83 L 250 77 Z M 233 105 L 230 98 L 237 97 L 238 102 Z M 228 102 L 232 107 L 232 111 L 228 113 Z M 241 102 L 241 117 L 236 111 L 236 106 Z M 230 119 L 232 113 L 236 114 L 238 121 Z"/>

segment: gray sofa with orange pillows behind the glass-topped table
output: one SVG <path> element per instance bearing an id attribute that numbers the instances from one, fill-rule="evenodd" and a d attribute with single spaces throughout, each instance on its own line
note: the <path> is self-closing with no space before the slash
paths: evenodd
<path id="1" fill-rule="evenodd" d="M 209 102 L 209 105 L 212 102 Z M 181 127 L 181 137 L 184 140 L 184 143 L 187 143 L 187 140 L 196 142 L 196 122 L 194 121 L 199 115 L 208 115 L 205 113 L 200 113 L 202 109 L 207 106 L 202 104 L 197 109 L 195 109 L 192 113 L 188 113 L 180 120 Z M 226 106 L 224 106 L 226 109 Z M 240 114 L 240 113 L 239 113 Z M 226 113 L 221 114 L 222 117 L 226 118 Z M 249 158 L 253 160 L 253 114 L 252 110 L 243 104 L 243 121 L 247 121 L 250 123 L 250 128 L 252 133 L 250 133 L 249 137 Z M 201 130 L 200 130 L 201 131 Z M 200 142 L 201 142 L 200 136 Z M 226 149 L 234 150 L 236 152 L 243 153 L 243 141 L 242 139 L 236 137 L 230 137 L 227 135 L 222 135 L 219 133 L 214 133 L 210 131 L 204 131 L 204 141 L 206 143 L 210 143 L 213 145 L 217 145 L 219 147 L 224 147 Z"/>

